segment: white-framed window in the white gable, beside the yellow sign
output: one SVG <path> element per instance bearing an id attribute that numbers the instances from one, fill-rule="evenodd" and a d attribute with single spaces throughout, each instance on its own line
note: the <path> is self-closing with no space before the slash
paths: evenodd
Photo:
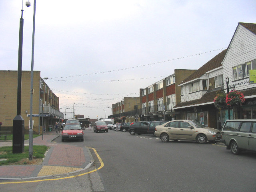
<path id="1" fill-rule="evenodd" d="M 256 69 L 256 61 L 255 59 L 244 64 L 239 64 L 232 68 L 233 71 L 233 80 L 248 77 L 249 70 Z"/>

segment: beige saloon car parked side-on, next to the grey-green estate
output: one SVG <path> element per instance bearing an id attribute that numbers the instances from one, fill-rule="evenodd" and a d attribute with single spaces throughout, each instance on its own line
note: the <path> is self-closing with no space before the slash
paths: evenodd
<path id="1" fill-rule="evenodd" d="M 192 120 L 173 120 L 156 126 L 155 135 L 162 142 L 171 140 L 194 140 L 200 144 L 216 142 L 220 140 L 220 131 L 214 128 L 204 127 Z"/>

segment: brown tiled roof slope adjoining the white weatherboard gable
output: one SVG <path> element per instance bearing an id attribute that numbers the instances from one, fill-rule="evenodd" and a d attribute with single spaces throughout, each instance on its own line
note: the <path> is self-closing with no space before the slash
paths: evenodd
<path id="1" fill-rule="evenodd" d="M 212 58 L 210 61 L 208 61 L 206 64 L 204 64 L 202 67 L 200 67 L 196 72 L 188 76 L 184 81 L 182 81 L 182 84 L 185 82 L 189 82 L 193 79 L 199 78 L 202 75 L 204 75 L 207 71 L 213 70 L 215 68 L 218 68 L 221 65 L 221 62 L 223 61 L 225 55 L 226 55 L 227 49 L 220 52 L 218 55 L 216 55 L 214 58 Z"/>

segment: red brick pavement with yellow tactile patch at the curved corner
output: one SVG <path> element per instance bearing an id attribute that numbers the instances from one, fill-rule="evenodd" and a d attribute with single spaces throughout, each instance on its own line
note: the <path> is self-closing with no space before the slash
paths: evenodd
<path id="1" fill-rule="evenodd" d="M 55 132 L 46 132 L 44 140 L 42 136 L 33 138 L 33 145 L 50 146 L 42 164 L 0 166 L 0 180 L 45 178 L 79 172 L 92 166 L 94 160 L 89 148 L 54 142 L 59 136 Z M 28 140 L 25 141 L 26 145 Z M 2 146 L 12 146 L 12 141 L 1 141 Z"/>

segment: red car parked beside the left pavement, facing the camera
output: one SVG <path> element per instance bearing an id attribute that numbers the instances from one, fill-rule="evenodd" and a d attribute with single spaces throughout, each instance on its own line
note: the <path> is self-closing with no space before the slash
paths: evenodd
<path id="1" fill-rule="evenodd" d="M 68 139 L 84 141 L 83 129 L 80 124 L 66 124 L 61 133 L 61 141 Z"/>

